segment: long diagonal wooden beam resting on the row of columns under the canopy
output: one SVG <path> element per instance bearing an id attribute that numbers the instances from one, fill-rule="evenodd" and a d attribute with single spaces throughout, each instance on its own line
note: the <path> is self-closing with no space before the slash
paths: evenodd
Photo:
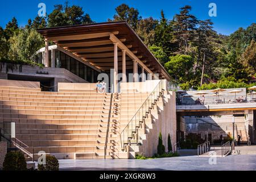
<path id="1" fill-rule="evenodd" d="M 118 43 L 118 47 L 121 48 L 122 50 L 126 51 L 126 54 L 131 57 L 131 59 L 133 60 L 137 60 L 139 65 L 141 65 L 142 67 L 144 67 L 144 69 L 148 72 L 148 73 L 153 73 L 150 69 L 148 69 L 146 67 L 146 65 L 144 65 L 144 63 L 142 63 L 141 60 L 139 60 L 139 58 L 137 56 L 134 55 L 133 52 L 130 51 L 129 48 L 127 48 L 114 34 L 110 34 L 110 40 L 112 40 L 112 42 L 114 43 Z"/>

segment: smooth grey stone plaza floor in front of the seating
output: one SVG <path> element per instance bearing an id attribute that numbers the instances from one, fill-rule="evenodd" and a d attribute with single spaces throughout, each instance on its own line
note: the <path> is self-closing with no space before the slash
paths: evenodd
<path id="1" fill-rule="evenodd" d="M 209 163 L 210 159 L 210 163 Z M 216 164 L 214 164 L 216 159 Z M 224 158 L 179 156 L 161 159 L 59 160 L 60 170 L 171 170 L 171 171 L 242 171 L 256 170 L 256 155 L 229 155 Z"/>

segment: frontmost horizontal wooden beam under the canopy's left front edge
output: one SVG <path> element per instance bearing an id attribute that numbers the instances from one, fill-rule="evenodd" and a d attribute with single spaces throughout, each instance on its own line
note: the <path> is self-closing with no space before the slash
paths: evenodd
<path id="1" fill-rule="evenodd" d="M 80 35 L 68 35 L 68 36 L 52 36 L 49 37 L 49 41 L 60 41 L 60 40 L 81 40 L 81 39 L 92 39 L 109 36 L 109 34 L 117 35 L 118 31 L 115 32 L 101 32 L 95 34 L 80 34 Z"/>

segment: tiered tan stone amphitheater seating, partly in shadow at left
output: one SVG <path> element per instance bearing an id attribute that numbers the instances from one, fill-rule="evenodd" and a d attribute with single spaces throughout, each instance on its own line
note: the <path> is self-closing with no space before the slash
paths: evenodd
<path id="1" fill-rule="evenodd" d="M 26 144 L 31 153 L 44 151 L 58 159 L 102 159 L 110 118 L 106 158 L 130 158 L 140 149 L 121 150 L 119 133 L 149 94 L 123 90 L 113 94 L 110 102 L 110 93 L 96 93 L 96 90 L 41 92 L 40 88 L 4 85 L 0 86 L 0 122 L 15 122 L 16 139 Z M 146 125 L 140 129 L 141 139 L 146 140 L 146 133 L 153 129 L 153 121 L 164 105 L 159 103 L 162 104 L 155 106 L 156 115 L 152 110 Z M 35 159 L 36 156 L 39 155 Z"/>

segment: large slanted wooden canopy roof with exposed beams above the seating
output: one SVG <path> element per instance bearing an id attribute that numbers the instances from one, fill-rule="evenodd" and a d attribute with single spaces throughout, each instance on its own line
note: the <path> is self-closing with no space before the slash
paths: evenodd
<path id="1" fill-rule="evenodd" d="M 167 71 L 125 21 L 43 28 L 37 31 L 48 41 L 53 41 L 102 71 L 114 67 L 113 39 L 116 39 L 119 44 L 129 49 L 130 55 L 140 60 L 140 65 L 146 66 L 147 72 L 159 73 L 161 79 L 171 79 Z M 127 54 L 126 69 L 133 68 L 132 59 L 133 57 Z M 118 49 L 118 69 L 122 69 L 121 49 Z"/>

